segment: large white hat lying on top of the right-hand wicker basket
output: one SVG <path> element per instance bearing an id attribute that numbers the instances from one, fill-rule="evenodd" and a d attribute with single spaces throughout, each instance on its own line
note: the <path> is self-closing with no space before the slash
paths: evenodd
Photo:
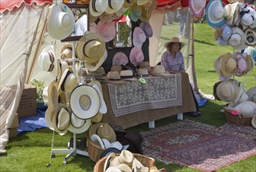
<path id="1" fill-rule="evenodd" d="M 256 103 L 251 101 L 242 102 L 235 107 L 243 117 L 254 117 L 256 115 Z"/>

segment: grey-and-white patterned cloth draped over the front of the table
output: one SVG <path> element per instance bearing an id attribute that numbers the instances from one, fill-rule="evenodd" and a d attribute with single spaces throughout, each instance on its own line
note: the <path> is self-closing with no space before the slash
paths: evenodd
<path id="1" fill-rule="evenodd" d="M 143 109 L 160 109 L 181 106 L 181 74 L 170 77 L 152 77 L 124 84 L 108 84 L 112 110 L 115 116 L 134 113 Z"/>

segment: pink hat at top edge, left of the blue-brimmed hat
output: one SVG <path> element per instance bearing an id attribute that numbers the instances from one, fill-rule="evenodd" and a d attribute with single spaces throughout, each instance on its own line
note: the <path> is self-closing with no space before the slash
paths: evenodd
<path id="1" fill-rule="evenodd" d="M 206 5 L 207 5 L 207 0 L 196 0 L 196 1 L 189 0 L 188 1 L 188 8 L 196 17 L 202 16 Z"/>

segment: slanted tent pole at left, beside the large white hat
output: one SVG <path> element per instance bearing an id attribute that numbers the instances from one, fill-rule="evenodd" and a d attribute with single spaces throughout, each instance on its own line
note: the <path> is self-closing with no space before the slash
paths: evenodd
<path id="1" fill-rule="evenodd" d="M 48 6 L 48 5 L 46 5 L 46 6 Z M 44 9 L 46 8 L 46 6 L 44 7 Z M 44 9 L 42 9 L 42 11 L 43 11 Z M 31 66 L 30 66 L 30 68 L 29 68 L 29 70 L 28 70 L 28 72 L 27 72 L 27 78 L 26 78 L 26 81 L 25 81 L 26 84 L 28 83 L 28 81 L 31 80 L 31 74 L 32 74 L 32 72 L 33 72 L 33 70 L 34 70 L 34 67 L 35 67 L 35 60 L 37 59 L 37 56 L 38 56 L 38 49 L 39 49 L 40 46 L 41 46 L 43 34 L 45 33 L 45 30 L 46 30 L 46 23 L 47 23 L 48 16 L 49 16 L 49 12 L 48 12 L 47 15 L 46 15 L 46 20 L 45 20 L 45 22 L 44 22 L 44 24 L 43 24 L 40 37 L 38 38 L 38 44 L 36 45 L 35 53 L 34 53 L 34 56 L 33 56 L 33 58 L 32 58 L 32 61 L 31 61 Z M 40 22 L 41 17 L 42 17 L 42 13 L 41 13 L 41 15 L 40 15 L 40 18 L 39 18 L 38 22 Z"/>

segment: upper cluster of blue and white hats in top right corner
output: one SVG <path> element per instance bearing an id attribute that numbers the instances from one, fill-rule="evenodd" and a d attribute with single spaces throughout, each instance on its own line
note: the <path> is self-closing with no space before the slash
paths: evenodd
<path id="1" fill-rule="evenodd" d="M 218 45 L 230 45 L 242 50 L 256 45 L 256 12 L 254 5 L 232 1 L 210 0 L 206 8 L 208 24 L 215 29 Z"/>

